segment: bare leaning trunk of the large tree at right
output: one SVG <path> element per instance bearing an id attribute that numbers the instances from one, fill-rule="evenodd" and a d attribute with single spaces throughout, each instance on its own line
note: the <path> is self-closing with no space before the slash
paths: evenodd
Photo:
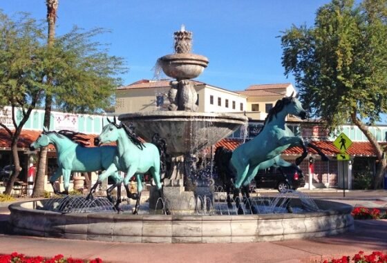
<path id="1" fill-rule="evenodd" d="M 366 135 L 368 141 L 372 145 L 372 148 L 376 151 L 376 157 L 377 157 L 377 173 L 375 175 L 375 178 L 372 180 L 372 187 L 374 189 L 377 189 L 381 186 L 381 183 L 383 182 L 384 172 L 387 168 L 387 160 L 384 157 L 383 148 L 381 148 L 380 144 L 377 142 L 377 139 L 375 138 L 372 133 L 370 133 L 370 130 L 368 130 L 367 126 L 364 125 L 363 122 L 361 122 L 359 119 L 357 119 L 356 111 L 355 113 L 351 114 L 351 119 L 353 123 L 359 127 L 359 129 Z"/>

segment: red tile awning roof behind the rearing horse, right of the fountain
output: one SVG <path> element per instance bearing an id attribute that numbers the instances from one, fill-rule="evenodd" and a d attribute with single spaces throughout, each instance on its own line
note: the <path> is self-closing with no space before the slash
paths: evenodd
<path id="1" fill-rule="evenodd" d="M 242 142 L 243 141 L 241 139 L 223 139 L 220 142 L 217 142 L 215 144 L 215 148 L 217 148 L 219 146 L 223 146 L 225 148 L 228 148 L 229 150 L 235 150 L 235 148 L 238 147 L 240 144 L 242 144 Z M 333 145 L 332 142 L 313 141 L 312 144 L 314 144 L 315 146 L 320 148 L 321 151 L 325 155 L 328 155 L 328 156 L 329 155 L 330 156 L 337 155 L 338 153 L 340 153 L 339 150 L 337 150 L 337 148 Z M 317 152 L 315 150 L 313 150 L 312 148 L 308 148 L 308 152 L 313 153 L 313 154 L 317 154 Z M 285 154 L 285 155 L 301 155 L 302 153 L 303 153 L 303 150 L 299 146 L 287 148 L 283 152 L 283 154 Z M 375 150 L 372 148 L 372 146 L 369 142 L 353 142 L 352 146 L 350 146 L 350 148 L 348 148 L 348 154 L 349 155 L 358 155 L 358 156 L 361 156 L 361 155 L 375 156 L 376 155 Z"/>

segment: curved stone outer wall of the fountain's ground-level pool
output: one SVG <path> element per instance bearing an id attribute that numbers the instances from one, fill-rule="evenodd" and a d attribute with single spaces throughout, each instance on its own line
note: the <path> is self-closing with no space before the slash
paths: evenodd
<path id="1" fill-rule="evenodd" d="M 271 242 L 344 233 L 352 206 L 316 199 L 322 210 L 263 215 L 128 215 L 36 210 L 45 200 L 11 204 L 14 233 L 75 240 L 135 243 Z"/>

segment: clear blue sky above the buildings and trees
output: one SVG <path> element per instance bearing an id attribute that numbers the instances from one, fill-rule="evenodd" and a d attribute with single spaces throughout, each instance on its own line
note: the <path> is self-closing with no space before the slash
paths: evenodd
<path id="1" fill-rule="evenodd" d="M 46 19 L 45 0 L 0 0 L 6 14 L 30 12 Z M 59 0 L 57 35 L 77 25 L 112 30 L 98 40 L 130 70 L 124 84 L 153 79 L 158 57 L 173 53 L 173 32 L 185 24 L 193 32 L 193 52 L 209 58 L 197 79 L 229 90 L 252 84 L 291 82 L 281 66 L 277 36 L 292 24 L 312 26 L 328 0 Z"/>

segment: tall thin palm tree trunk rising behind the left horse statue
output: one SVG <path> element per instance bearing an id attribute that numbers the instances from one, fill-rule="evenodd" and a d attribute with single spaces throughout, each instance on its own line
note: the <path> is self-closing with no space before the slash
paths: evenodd
<path id="1" fill-rule="evenodd" d="M 51 48 L 54 45 L 55 41 L 55 23 L 57 21 L 57 9 L 59 5 L 59 0 L 46 0 L 47 6 L 47 22 L 48 22 L 48 38 L 47 46 Z M 48 84 L 50 84 L 50 77 L 47 78 Z M 51 106 L 53 104 L 52 95 L 46 94 L 46 106 L 44 113 L 44 126 L 50 128 L 50 115 L 51 115 Z M 41 197 L 44 195 L 44 185 L 45 174 L 46 174 L 46 161 L 47 161 L 47 147 L 44 147 L 40 151 L 39 157 L 39 166 L 37 171 L 37 176 L 35 179 L 35 186 L 32 193 L 32 197 Z"/>

